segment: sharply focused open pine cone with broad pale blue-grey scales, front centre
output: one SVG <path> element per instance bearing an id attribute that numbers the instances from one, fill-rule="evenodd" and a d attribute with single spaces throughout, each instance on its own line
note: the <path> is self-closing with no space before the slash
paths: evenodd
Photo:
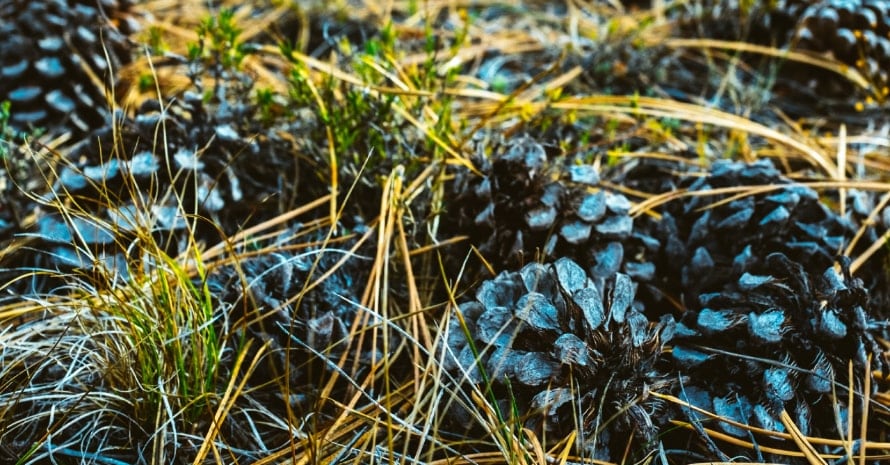
<path id="1" fill-rule="evenodd" d="M 460 306 L 469 339 L 458 318 L 450 320 L 446 369 L 493 383 L 502 406 L 515 404 L 548 438 L 580 425 L 582 447 L 603 460 L 617 460 L 631 437 L 651 448 L 662 405 L 646 393 L 670 385 L 656 365 L 673 319 L 650 323 L 634 305 L 634 287 L 624 274 L 597 284 L 568 258 L 503 272 Z"/>

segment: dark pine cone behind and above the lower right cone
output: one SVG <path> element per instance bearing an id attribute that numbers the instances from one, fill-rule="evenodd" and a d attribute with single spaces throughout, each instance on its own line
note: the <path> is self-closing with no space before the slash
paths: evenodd
<path id="1" fill-rule="evenodd" d="M 755 195 L 705 195 L 719 188 L 768 185 L 775 189 Z M 637 230 L 658 243 L 655 286 L 691 309 L 703 306 L 700 295 L 734 285 L 746 272 L 763 266 L 773 252 L 801 263 L 808 272 L 831 266 L 856 235 L 873 201 L 871 194 L 848 193 L 849 208 L 841 216 L 818 192 L 785 178 L 769 160 L 718 161 L 707 176 L 681 180 L 678 187 L 702 195 L 668 203 L 659 211 L 660 219 L 638 220 Z M 876 240 L 881 228 L 866 228 L 854 254 Z M 882 256 L 879 252 L 862 273 L 867 288 L 880 289 L 881 299 L 886 278 L 877 271 Z"/>

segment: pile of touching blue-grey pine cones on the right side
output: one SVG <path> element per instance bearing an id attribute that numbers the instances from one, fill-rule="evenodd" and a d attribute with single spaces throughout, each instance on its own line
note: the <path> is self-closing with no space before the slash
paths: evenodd
<path id="1" fill-rule="evenodd" d="M 689 441 L 667 434 L 667 420 L 695 424 L 699 414 L 653 392 L 772 431 L 785 430 L 787 411 L 801 431 L 821 437 L 834 434 L 835 408 L 859 415 L 858 404 L 831 394 L 885 367 L 877 342 L 887 316 L 882 259 L 859 270 L 863 280 L 842 256 L 864 223 L 864 208 L 852 206 L 861 193 L 841 216 L 768 160 L 720 161 L 704 176 L 679 178 L 677 164 L 660 180 L 640 166 L 622 173 L 626 186 L 689 197 L 659 208 L 659 219 L 634 219 L 630 202 L 609 192 L 593 166 L 551 161 L 528 138 L 477 168 L 455 183 L 464 197 L 455 197 L 452 221 L 476 234 L 479 251 L 504 271 L 456 310 L 462 318 L 447 328 L 446 368 L 490 386 L 505 415 L 519 406 L 518 421 L 548 437 L 578 428 L 582 448 L 611 461 L 629 443 L 639 458 L 659 441 Z M 755 186 L 771 189 L 736 195 Z M 588 221 L 579 211 L 589 198 L 603 205 Z M 609 198 L 622 199 L 621 208 L 615 200 L 607 207 Z M 541 213 L 550 206 L 559 208 Z M 542 215 L 546 222 L 530 221 Z M 621 234 L 600 229 L 609 218 L 628 225 Z M 587 232 L 572 243 L 566 225 L 582 221 Z M 865 236 L 887 227 L 867 227 Z M 468 424 L 466 412 L 455 415 Z M 747 441 L 738 424 L 711 427 Z M 709 457 L 763 460 L 695 431 Z"/>

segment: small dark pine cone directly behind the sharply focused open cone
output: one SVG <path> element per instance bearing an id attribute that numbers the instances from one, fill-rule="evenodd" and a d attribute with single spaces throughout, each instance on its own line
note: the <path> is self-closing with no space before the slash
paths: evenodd
<path id="1" fill-rule="evenodd" d="M 457 175 L 444 224 L 468 235 L 496 270 L 553 257 L 573 257 L 600 278 L 621 270 L 631 203 L 600 188 L 593 166 L 552 161 L 527 137 L 476 165 L 481 175 Z"/>

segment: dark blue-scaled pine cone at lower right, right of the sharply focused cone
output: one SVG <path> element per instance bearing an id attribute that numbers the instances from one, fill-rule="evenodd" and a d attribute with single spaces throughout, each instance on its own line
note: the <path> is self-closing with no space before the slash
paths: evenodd
<path id="1" fill-rule="evenodd" d="M 851 276 L 849 264 L 843 258 L 839 270 L 830 266 L 823 273 L 811 272 L 809 265 L 773 253 L 734 286 L 702 295 L 703 308 L 687 311 L 675 327 L 672 360 L 685 380 L 676 395 L 729 420 L 771 431 L 786 431 L 782 411 L 813 437 L 836 435 L 838 422 L 842 431 L 847 422 L 858 424 L 866 368 L 885 367 L 876 339 L 886 322 L 870 311 L 868 291 Z M 848 376 L 851 361 L 853 379 Z M 846 401 L 849 386 L 856 386 L 853 405 Z M 872 383 L 868 395 L 877 389 Z M 698 416 L 691 411 L 681 415 Z M 740 440 L 750 438 L 737 425 L 707 425 Z M 791 441 L 758 440 L 762 446 L 794 447 Z M 764 460 L 751 449 L 721 444 L 728 456 Z M 773 460 L 778 458 L 767 457 Z"/>

